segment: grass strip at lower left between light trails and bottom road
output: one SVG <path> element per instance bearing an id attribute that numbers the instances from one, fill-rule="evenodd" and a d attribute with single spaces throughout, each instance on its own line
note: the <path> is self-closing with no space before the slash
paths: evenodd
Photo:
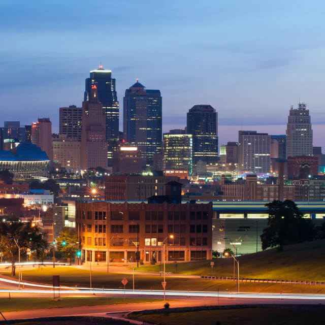
<path id="1" fill-rule="evenodd" d="M 0 298 L 0 306 L 2 312 L 77 307 L 77 306 L 97 306 L 97 305 L 114 305 L 114 304 L 130 304 L 160 301 L 160 299 L 146 298 L 104 298 L 104 297 L 63 297 L 61 300 L 53 300 L 52 298 Z"/>

